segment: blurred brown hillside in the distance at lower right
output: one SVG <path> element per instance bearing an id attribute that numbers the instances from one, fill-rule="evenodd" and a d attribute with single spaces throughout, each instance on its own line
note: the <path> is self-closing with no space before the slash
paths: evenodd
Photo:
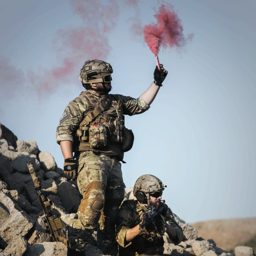
<path id="1" fill-rule="evenodd" d="M 234 252 L 236 246 L 245 245 L 256 252 L 256 217 L 197 222 L 192 226 L 198 237 L 213 239 L 224 250 Z"/>

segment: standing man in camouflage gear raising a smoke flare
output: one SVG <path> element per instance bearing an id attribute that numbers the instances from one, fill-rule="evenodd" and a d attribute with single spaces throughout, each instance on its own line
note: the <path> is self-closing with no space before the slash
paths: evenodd
<path id="1" fill-rule="evenodd" d="M 73 220 L 74 252 L 84 252 L 102 217 L 98 247 L 104 254 L 117 254 L 114 225 L 125 190 L 120 161 L 133 144 L 133 133 L 124 126 L 124 115 L 148 110 L 167 75 L 163 65 L 160 70 L 156 66 L 154 82 L 135 99 L 109 94 L 112 73 L 109 63 L 86 61 L 80 73 L 86 90 L 65 107 L 57 127 L 64 173 L 73 180 L 77 178 L 83 197 Z"/>

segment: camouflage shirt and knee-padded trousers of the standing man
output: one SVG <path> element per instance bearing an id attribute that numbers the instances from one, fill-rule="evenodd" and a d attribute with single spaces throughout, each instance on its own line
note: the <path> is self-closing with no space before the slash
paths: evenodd
<path id="1" fill-rule="evenodd" d="M 73 142 L 76 130 L 81 132 L 83 119 L 106 98 L 110 100 L 110 105 L 90 125 L 108 125 L 109 120 L 116 120 L 122 115 L 140 114 L 150 107 L 141 97 L 134 99 L 119 94 L 99 96 L 92 91 L 82 92 L 65 107 L 57 127 L 57 143 Z M 110 139 L 106 146 L 94 149 L 81 139 L 76 145 L 75 155 L 79 163 L 77 182 L 83 199 L 74 218 L 73 237 L 76 242 L 86 244 L 102 217 L 101 228 L 97 231 L 98 246 L 103 253 L 117 254 L 114 224 L 124 198 L 125 185 L 120 163 L 124 152 L 122 143 Z"/>

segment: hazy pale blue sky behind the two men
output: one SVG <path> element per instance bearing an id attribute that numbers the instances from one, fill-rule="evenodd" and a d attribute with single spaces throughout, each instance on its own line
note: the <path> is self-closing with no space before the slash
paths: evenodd
<path id="1" fill-rule="evenodd" d="M 161 6 L 181 37 L 158 45 L 168 75 L 150 109 L 125 117 L 135 136 L 122 164 L 126 188 L 157 176 L 188 223 L 256 217 L 254 0 L 2 0 L 0 123 L 62 168 L 55 131 L 83 91 L 84 62 L 109 62 L 111 93 L 138 98 L 156 66 L 143 30 L 158 24 Z"/>

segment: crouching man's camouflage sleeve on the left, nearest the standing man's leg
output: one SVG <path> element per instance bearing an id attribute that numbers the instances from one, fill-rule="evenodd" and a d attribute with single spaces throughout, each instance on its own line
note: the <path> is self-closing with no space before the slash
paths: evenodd
<path id="1" fill-rule="evenodd" d="M 132 205 L 127 201 L 124 201 L 120 206 L 116 224 L 115 238 L 116 242 L 122 247 L 127 247 L 132 243 L 128 243 L 125 239 L 127 230 L 140 223 L 140 218 L 138 220 L 134 220 L 134 213 L 135 212 Z"/>

